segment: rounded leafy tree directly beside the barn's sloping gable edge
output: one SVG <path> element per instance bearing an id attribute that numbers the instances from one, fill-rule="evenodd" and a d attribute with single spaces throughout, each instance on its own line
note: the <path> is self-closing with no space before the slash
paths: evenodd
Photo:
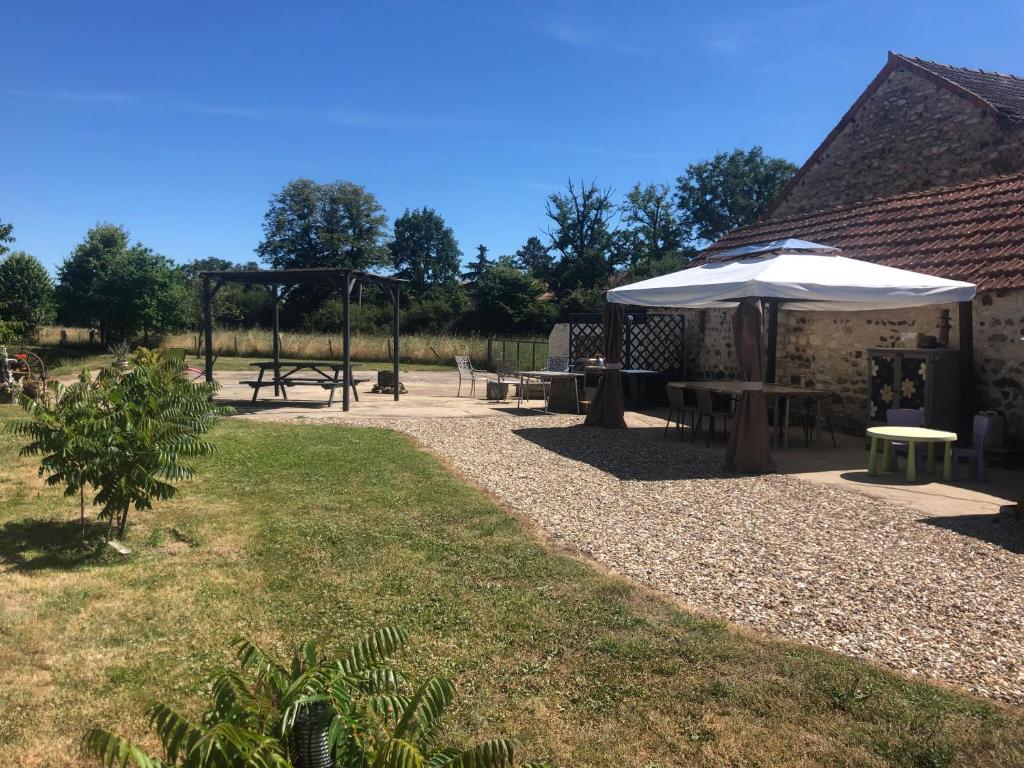
<path id="1" fill-rule="evenodd" d="M 760 146 L 719 153 L 690 165 L 676 179 L 684 237 L 713 242 L 754 221 L 796 172 L 793 163 L 770 158 Z"/>

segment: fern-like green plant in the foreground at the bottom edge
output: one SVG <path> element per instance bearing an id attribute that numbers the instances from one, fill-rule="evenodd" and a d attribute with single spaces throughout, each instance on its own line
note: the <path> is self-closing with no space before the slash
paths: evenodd
<path id="1" fill-rule="evenodd" d="M 439 677 L 411 686 L 392 666 L 406 641 L 402 630 L 385 628 L 334 659 L 322 657 L 307 642 L 286 667 L 240 640 L 239 670 L 213 676 L 212 700 L 199 722 L 166 705 L 151 711 L 162 759 L 98 726 L 86 734 L 84 751 L 103 768 L 513 766 L 514 746 L 507 739 L 468 750 L 438 746 L 455 688 Z"/>

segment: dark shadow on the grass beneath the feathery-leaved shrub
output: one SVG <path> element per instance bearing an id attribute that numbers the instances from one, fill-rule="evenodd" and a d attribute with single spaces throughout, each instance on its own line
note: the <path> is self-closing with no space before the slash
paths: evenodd
<path id="1" fill-rule="evenodd" d="M 27 517 L 0 526 L 0 564 L 10 570 L 72 570 L 104 561 L 106 523 Z"/>

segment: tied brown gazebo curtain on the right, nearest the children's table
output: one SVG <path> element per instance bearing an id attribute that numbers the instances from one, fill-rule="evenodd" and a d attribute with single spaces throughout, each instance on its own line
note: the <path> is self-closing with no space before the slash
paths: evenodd
<path id="1" fill-rule="evenodd" d="M 761 368 L 761 302 L 742 299 L 732 315 L 732 333 L 744 382 L 725 452 L 725 466 L 736 472 L 763 472 L 772 466 L 768 454 L 768 401 Z"/>

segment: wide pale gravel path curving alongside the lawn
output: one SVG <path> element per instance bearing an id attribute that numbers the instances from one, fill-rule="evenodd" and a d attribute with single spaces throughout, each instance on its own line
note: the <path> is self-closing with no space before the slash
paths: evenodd
<path id="1" fill-rule="evenodd" d="M 578 417 L 357 423 L 410 434 L 552 539 L 687 605 L 1024 703 L 1024 524 L 985 520 L 999 546 Z"/>

